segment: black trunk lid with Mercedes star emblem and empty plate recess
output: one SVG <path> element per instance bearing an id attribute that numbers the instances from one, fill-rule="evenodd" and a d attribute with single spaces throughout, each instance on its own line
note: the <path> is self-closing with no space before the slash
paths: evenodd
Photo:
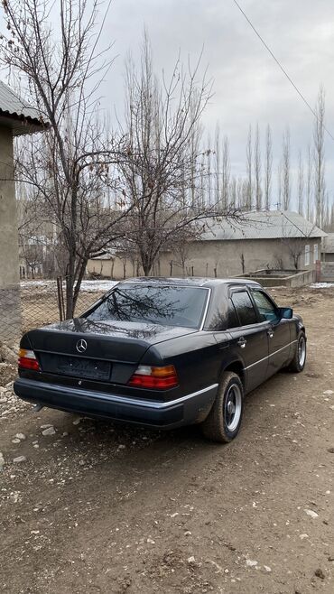
<path id="1" fill-rule="evenodd" d="M 193 331 L 81 318 L 31 330 L 27 338 L 42 372 L 125 384 L 148 348 Z"/>

